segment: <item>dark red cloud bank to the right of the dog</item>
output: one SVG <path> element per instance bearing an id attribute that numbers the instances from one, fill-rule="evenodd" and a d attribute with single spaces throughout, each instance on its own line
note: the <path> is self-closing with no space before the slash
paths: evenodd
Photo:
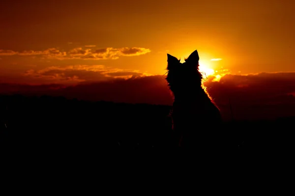
<path id="1" fill-rule="evenodd" d="M 295 72 L 227 74 L 204 85 L 227 118 L 232 113 L 236 119 L 295 115 Z"/>

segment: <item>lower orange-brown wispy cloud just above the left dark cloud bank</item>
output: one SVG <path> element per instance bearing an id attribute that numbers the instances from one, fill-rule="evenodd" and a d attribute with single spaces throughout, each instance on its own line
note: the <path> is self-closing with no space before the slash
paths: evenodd
<path id="1" fill-rule="evenodd" d="M 79 51 L 78 51 L 79 53 Z M 55 83 L 80 83 L 109 81 L 114 78 L 134 78 L 146 76 L 138 70 L 123 70 L 109 68 L 104 65 L 70 65 L 65 67 L 52 66 L 41 70 L 30 69 L 24 74 L 26 77 L 50 80 Z"/>

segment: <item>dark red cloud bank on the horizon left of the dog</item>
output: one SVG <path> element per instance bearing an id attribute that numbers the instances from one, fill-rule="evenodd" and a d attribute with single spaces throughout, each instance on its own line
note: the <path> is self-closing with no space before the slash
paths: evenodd
<path id="1" fill-rule="evenodd" d="M 62 84 L 21 85 L 0 84 L 0 93 L 18 92 L 24 95 L 51 95 L 90 101 L 114 101 L 124 103 L 172 104 L 173 97 L 163 76 L 132 77 L 74 86 Z"/>

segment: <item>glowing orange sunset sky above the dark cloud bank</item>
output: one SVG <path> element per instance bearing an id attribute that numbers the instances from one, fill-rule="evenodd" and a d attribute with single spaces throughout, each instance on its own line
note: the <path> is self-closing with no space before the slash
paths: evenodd
<path id="1" fill-rule="evenodd" d="M 0 83 L 163 75 L 196 49 L 215 71 L 295 71 L 293 0 L 30 2 L 0 2 Z"/>

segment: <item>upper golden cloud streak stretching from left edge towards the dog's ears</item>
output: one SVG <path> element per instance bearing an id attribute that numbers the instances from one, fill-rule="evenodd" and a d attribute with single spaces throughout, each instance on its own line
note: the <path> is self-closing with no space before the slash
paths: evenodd
<path id="1" fill-rule="evenodd" d="M 95 47 L 86 46 L 86 47 Z M 50 48 L 44 51 L 22 51 L 15 52 L 12 50 L 0 50 L 0 56 L 42 56 L 47 58 L 56 58 L 56 59 L 118 59 L 120 56 L 140 56 L 149 53 L 150 50 L 146 48 L 101 48 L 101 49 L 84 49 L 82 47 L 73 48 L 68 52 L 60 51 L 57 48 Z"/>

